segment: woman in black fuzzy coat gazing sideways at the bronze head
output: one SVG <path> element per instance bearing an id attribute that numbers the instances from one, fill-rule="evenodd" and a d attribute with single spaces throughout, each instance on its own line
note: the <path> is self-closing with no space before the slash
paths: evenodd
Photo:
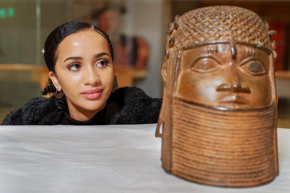
<path id="1" fill-rule="evenodd" d="M 136 87 L 116 89 L 113 49 L 103 31 L 89 23 L 64 23 L 49 34 L 44 50 L 50 78 L 42 95 L 53 96 L 31 99 L 2 125 L 157 123 L 162 99 Z"/>

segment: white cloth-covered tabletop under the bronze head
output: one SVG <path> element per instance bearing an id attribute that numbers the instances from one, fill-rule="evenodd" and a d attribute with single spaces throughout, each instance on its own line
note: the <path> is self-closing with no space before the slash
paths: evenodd
<path id="1" fill-rule="evenodd" d="M 155 128 L 0 126 L 0 192 L 290 192 L 290 129 L 278 129 L 279 176 L 237 189 L 166 173 Z"/>

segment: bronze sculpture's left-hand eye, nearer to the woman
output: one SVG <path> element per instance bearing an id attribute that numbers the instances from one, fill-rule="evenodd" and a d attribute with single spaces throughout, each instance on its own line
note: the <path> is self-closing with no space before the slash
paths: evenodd
<path id="1" fill-rule="evenodd" d="M 196 72 L 206 73 L 206 72 L 212 72 L 220 67 L 220 64 L 218 61 L 216 61 L 214 58 L 204 57 L 198 59 L 194 64 L 191 66 L 191 70 L 194 70 Z"/>

